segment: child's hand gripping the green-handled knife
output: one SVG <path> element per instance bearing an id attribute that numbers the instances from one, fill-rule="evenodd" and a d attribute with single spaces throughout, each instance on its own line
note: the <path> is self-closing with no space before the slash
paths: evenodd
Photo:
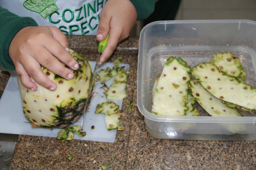
<path id="1" fill-rule="evenodd" d="M 137 11 L 130 0 L 108 0 L 100 14 L 97 40 L 103 41 L 109 33 L 106 49 L 98 64 L 105 62 L 116 49 L 117 44 L 129 36 L 137 20 Z"/>

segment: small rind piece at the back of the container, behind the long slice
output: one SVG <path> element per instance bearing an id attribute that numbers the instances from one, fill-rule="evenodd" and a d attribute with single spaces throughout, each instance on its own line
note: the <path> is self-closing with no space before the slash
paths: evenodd
<path id="1" fill-rule="evenodd" d="M 229 76 L 240 77 L 245 80 L 245 71 L 239 58 L 233 56 L 229 52 L 214 54 L 210 60 L 219 71 Z"/>

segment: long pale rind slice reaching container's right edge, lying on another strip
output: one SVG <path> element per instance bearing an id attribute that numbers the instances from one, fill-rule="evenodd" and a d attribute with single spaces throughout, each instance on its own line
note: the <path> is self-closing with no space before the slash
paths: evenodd
<path id="1" fill-rule="evenodd" d="M 256 88 L 221 73 L 214 64 L 200 63 L 191 73 L 213 96 L 242 108 L 256 110 Z"/>

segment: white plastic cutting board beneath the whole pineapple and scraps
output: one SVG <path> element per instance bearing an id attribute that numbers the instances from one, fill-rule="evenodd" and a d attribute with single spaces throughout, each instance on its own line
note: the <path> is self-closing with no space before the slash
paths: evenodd
<path id="1" fill-rule="evenodd" d="M 89 62 L 91 67 L 94 68 L 95 62 Z M 106 69 L 107 67 L 111 68 L 114 66 L 113 63 L 103 63 L 100 67 L 97 68 L 97 72 L 101 69 Z M 125 66 L 125 69 L 129 69 L 129 64 L 120 64 Z M 9 71 L 0 67 L 1 71 L 10 72 L 11 76 L 9 81 L 4 89 L 3 95 L 0 100 L 0 133 L 10 133 L 10 134 L 26 134 L 33 136 L 45 136 L 45 137 L 57 137 L 57 133 L 61 130 L 60 128 L 32 128 L 31 124 L 25 118 L 22 111 L 21 97 L 19 92 L 19 86 L 15 71 Z M 113 83 L 113 80 L 110 79 L 106 82 L 106 85 L 109 87 Z M 95 109 L 97 104 L 107 101 L 106 95 L 103 93 L 104 90 L 101 88 L 103 85 L 98 81 L 94 85 L 93 98 L 89 104 L 89 110 L 86 111 L 84 122 L 83 122 L 83 131 L 86 132 L 84 137 L 75 135 L 74 139 L 80 140 L 91 140 L 99 142 L 114 142 L 116 138 L 117 130 L 108 130 L 105 124 L 105 115 L 104 114 L 95 114 Z M 103 96 L 103 97 L 102 97 Z M 119 105 L 121 110 L 122 101 L 114 101 Z M 82 117 L 81 117 L 82 119 Z M 76 121 L 73 125 L 81 125 L 82 120 Z M 91 127 L 94 126 L 94 129 Z"/>

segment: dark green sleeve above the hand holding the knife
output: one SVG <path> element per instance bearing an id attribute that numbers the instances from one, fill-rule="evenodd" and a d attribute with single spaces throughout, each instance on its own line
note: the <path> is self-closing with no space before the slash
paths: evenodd
<path id="1" fill-rule="evenodd" d="M 130 0 L 136 8 L 137 20 L 147 18 L 155 9 L 155 0 Z"/>

